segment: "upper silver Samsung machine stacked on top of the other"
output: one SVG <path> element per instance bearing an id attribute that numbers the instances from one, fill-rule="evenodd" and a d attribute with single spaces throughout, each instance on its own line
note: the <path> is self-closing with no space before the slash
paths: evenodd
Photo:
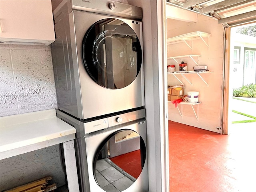
<path id="1" fill-rule="evenodd" d="M 88 119 L 145 105 L 142 9 L 64 0 L 51 44 L 58 108 Z"/>

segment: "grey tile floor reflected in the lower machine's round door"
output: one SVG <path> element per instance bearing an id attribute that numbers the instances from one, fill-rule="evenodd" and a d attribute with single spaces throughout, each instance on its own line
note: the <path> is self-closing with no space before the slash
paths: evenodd
<path id="1" fill-rule="evenodd" d="M 111 165 L 110 160 L 102 159 L 96 163 L 96 179 L 100 187 L 107 192 L 120 192 L 130 187 L 134 181 L 127 173 L 121 173 Z"/>

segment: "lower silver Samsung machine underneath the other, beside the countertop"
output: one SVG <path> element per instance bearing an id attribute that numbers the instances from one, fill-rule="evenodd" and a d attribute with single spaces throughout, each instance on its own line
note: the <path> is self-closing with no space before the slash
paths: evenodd
<path id="1" fill-rule="evenodd" d="M 56 110 L 76 127 L 81 192 L 147 192 L 145 109 L 80 121 Z"/>

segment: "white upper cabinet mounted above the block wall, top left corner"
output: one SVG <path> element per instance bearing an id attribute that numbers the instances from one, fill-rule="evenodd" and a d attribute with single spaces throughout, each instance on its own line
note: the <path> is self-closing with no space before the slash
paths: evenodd
<path id="1" fill-rule="evenodd" d="M 54 42 L 51 0 L 0 0 L 0 41 L 39 45 Z"/>

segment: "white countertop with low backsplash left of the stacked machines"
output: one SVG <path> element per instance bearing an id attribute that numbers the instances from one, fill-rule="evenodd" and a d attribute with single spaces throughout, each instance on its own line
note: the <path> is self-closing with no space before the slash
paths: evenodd
<path id="1" fill-rule="evenodd" d="M 0 159 L 74 140 L 75 133 L 55 109 L 0 117 Z"/>

